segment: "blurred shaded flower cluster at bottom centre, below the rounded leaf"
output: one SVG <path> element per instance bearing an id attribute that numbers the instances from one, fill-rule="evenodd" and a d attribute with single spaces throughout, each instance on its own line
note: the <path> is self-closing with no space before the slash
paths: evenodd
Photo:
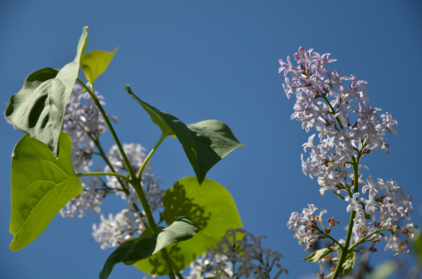
<path id="1" fill-rule="evenodd" d="M 240 239 L 237 240 L 237 238 Z M 271 279 L 270 272 L 274 265 L 279 271 L 273 276 L 278 278 L 287 269 L 277 263 L 282 255 L 277 251 L 261 246 L 264 236 L 254 236 L 243 228 L 227 230 L 226 235 L 217 244 L 216 249 L 210 249 L 190 264 L 191 271 L 185 279 L 216 277 L 219 279 L 246 278 Z M 235 270 L 236 263 L 238 268 Z M 233 274 L 234 273 L 234 274 Z"/>

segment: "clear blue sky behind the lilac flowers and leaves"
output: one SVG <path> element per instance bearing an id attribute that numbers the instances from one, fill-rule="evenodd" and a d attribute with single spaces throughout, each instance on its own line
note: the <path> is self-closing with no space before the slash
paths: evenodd
<path id="1" fill-rule="evenodd" d="M 126 84 L 185 123 L 227 123 L 246 148 L 219 162 L 208 177 L 230 190 L 244 227 L 268 236 L 264 245 L 284 255 L 281 263 L 290 271 L 286 278 L 296 279 L 318 266 L 299 260 L 309 253 L 286 227 L 290 213 L 311 203 L 328 209 L 341 225 L 348 214 L 333 195 L 321 199 L 316 181 L 302 173 L 300 153 L 310 134 L 290 120 L 295 100 L 284 94 L 277 60 L 300 46 L 314 48 L 338 59 L 332 69 L 368 82 L 371 105 L 393 115 L 399 135 L 387 136 L 390 154 L 377 150 L 364 158 L 362 164 L 371 169 L 364 177 L 396 180 L 414 197 L 412 218 L 419 225 L 421 132 L 415 105 L 422 84 L 421 12 L 419 1 L 1 1 L 0 101 L 8 102 L 30 72 L 72 61 L 82 27 L 88 25 L 87 51 L 119 47 L 96 90 L 119 118 L 115 129 L 121 141 L 151 149 L 160 137 L 123 89 Z M 4 121 L 0 129 L 0 277 L 97 278 L 112 251 L 102 251 L 91 236 L 99 215 L 74 221 L 57 216 L 27 247 L 9 249 L 10 161 L 23 133 Z M 110 133 L 103 143 L 106 148 L 113 144 Z M 194 174 L 172 138 L 152 163 L 165 189 Z M 102 209 L 107 215 L 123 207 L 120 198 L 110 197 Z M 393 258 L 384 245 L 372 263 Z M 142 275 L 119 264 L 109 278 Z"/>

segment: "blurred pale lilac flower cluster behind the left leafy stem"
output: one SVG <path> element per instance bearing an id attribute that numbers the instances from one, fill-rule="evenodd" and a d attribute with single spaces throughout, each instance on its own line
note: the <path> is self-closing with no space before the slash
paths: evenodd
<path id="1" fill-rule="evenodd" d="M 73 87 L 66 106 L 62 127 L 62 131 L 72 137 L 71 157 L 73 167 L 82 172 L 89 172 L 89 166 L 93 164 L 92 155 L 103 155 L 104 159 L 108 161 L 104 172 L 124 172 L 129 177 L 117 145 L 112 145 L 107 154 L 101 154 L 102 149 L 101 152 L 97 152 L 96 149 L 100 151 L 101 148 L 99 146 L 100 134 L 106 132 L 106 121 L 89 94 L 87 92 L 79 93 L 81 89 L 82 87 L 78 84 Z M 105 105 L 104 97 L 98 95 L 97 91 L 95 91 L 95 95 L 100 100 L 101 105 Z M 114 122 L 117 120 L 114 115 L 108 116 L 108 118 Z M 122 147 L 130 166 L 137 173 L 146 158 L 145 153 L 143 153 L 146 149 L 139 143 L 124 143 Z M 100 166 L 97 166 L 95 171 L 99 172 L 100 169 Z M 160 189 L 160 181 L 155 180 L 157 176 L 151 174 L 151 172 L 152 165 L 148 162 L 143 170 L 141 186 L 151 211 L 154 212 L 163 207 L 162 195 L 164 190 Z M 127 207 L 121 212 L 116 215 L 110 213 L 108 219 L 101 214 L 101 222 L 98 226 L 92 225 L 92 236 L 101 245 L 101 249 L 116 247 L 124 241 L 136 238 L 149 227 L 145 213 L 138 209 L 140 201 L 134 188 L 125 180 L 107 175 L 106 181 L 100 176 L 89 176 L 87 180 L 81 178 L 81 182 L 82 193 L 60 210 L 62 217 L 70 217 L 71 219 L 74 216 L 83 217 L 87 211 L 102 213 L 100 204 L 109 193 L 120 195 L 122 199 L 128 201 Z"/>

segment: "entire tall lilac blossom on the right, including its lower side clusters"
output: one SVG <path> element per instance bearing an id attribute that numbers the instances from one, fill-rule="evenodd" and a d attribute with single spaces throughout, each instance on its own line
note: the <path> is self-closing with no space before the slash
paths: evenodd
<path id="1" fill-rule="evenodd" d="M 360 170 L 369 169 L 359 164 L 365 154 L 376 149 L 381 148 L 389 153 L 390 145 L 384 136 L 387 133 L 398 134 L 393 128 L 398 126 L 397 121 L 392 120 L 390 113 L 380 115 L 381 109 L 369 105 L 364 80 L 357 80 L 354 75 L 340 75 L 337 70 L 327 70 L 327 64 L 336 60 L 328 59 L 330 54 L 321 56 L 312 50 L 299 48 L 294 56 L 297 66 L 292 64 L 289 56 L 287 63 L 279 60 L 279 72 L 284 70 L 285 76 L 284 92 L 287 98 L 292 94 L 297 98 L 291 119 L 302 123 L 302 128 L 307 132 L 315 127 L 318 134 L 319 143 L 315 143 L 314 139 L 317 134 L 312 134 L 308 142 L 302 145 L 305 152 L 310 148 L 308 158 L 304 159 L 303 154 L 300 156 L 302 171 L 305 175 L 309 174 L 311 179 L 317 177 L 322 196 L 326 190 L 331 190 L 348 203 L 344 209 L 354 215 L 354 218 L 351 217 L 354 223 L 350 227 L 350 246 L 365 241 L 375 244 L 385 239 L 385 250 L 392 249 L 395 255 L 407 253 L 408 239 L 414 236 L 414 229 L 417 229 L 409 217 L 409 213 L 413 213 L 411 195 L 406 196 L 394 180 L 385 183 L 379 178 L 374 183 L 369 175 L 366 182 L 363 181 Z M 352 119 L 355 119 L 354 123 Z M 352 169 L 351 173 L 349 169 Z M 363 186 L 361 191 L 355 189 L 355 185 L 359 184 Z M 348 195 L 343 197 L 342 191 Z M 363 194 L 365 197 L 357 199 Z M 315 210 L 321 208 L 313 204 L 308 206 L 302 214 L 292 212 L 287 223 L 299 244 L 306 244 L 306 249 L 309 249 L 312 243 L 323 238 L 333 240 L 330 245 L 343 244 L 344 240 L 335 241 L 330 237 L 330 230 L 338 221 L 334 217 L 328 219 L 327 228 L 322 220 L 322 214 L 326 211 L 322 210 L 316 215 Z M 400 220 L 408 224 L 403 226 Z M 383 234 L 387 230 L 390 237 Z M 406 235 L 407 239 L 400 240 L 399 233 Z M 374 250 L 373 247 L 371 249 Z M 320 264 L 323 266 L 323 260 Z M 329 278 L 331 275 L 325 276 Z"/>

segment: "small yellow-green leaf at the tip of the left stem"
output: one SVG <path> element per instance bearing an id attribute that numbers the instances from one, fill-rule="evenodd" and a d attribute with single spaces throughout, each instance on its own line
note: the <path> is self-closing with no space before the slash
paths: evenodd
<path id="1" fill-rule="evenodd" d="M 119 48 L 115 48 L 114 51 L 95 49 L 85 54 L 81 66 L 85 77 L 91 84 L 94 84 L 95 79 L 107 70 L 108 64 L 110 64 L 117 49 Z"/>

